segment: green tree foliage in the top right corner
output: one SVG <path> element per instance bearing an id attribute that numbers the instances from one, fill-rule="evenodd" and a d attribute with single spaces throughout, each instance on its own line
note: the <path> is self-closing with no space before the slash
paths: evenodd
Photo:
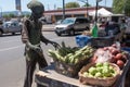
<path id="1" fill-rule="evenodd" d="M 113 12 L 130 15 L 130 0 L 113 0 Z"/>

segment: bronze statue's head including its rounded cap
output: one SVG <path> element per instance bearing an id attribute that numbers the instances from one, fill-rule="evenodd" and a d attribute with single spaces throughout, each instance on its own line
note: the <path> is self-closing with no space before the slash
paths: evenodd
<path id="1" fill-rule="evenodd" d="M 27 8 L 32 11 L 32 16 L 35 16 L 36 18 L 40 18 L 44 12 L 43 4 L 37 0 L 31 0 L 27 4 Z"/>

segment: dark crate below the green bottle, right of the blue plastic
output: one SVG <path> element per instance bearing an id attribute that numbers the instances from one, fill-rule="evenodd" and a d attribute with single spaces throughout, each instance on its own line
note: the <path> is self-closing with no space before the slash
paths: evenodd
<path id="1" fill-rule="evenodd" d="M 114 37 L 93 37 L 91 38 L 91 46 L 94 48 L 107 47 L 114 44 Z"/>

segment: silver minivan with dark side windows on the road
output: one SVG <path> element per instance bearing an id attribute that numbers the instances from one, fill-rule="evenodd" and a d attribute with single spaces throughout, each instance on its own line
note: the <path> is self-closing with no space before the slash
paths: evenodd
<path id="1" fill-rule="evenodd" d="M 62 34 L 75 35 L 76 32 L 90 29 L 90 22 L 86 17 L 67 17 L 54 27 L 57 36 Z"/>

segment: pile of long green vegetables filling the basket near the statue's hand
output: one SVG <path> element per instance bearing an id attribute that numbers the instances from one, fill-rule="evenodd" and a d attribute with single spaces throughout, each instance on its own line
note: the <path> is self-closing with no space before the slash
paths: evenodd
<path id="1" fill-rule="evenodd" d="M 70 48 L 66 47 L 65 44 L 62 44 L 62 47 L 58 50 L 49 49 L 49 55 L 54 60 L 62 61 L 67 64 L 77 64 L 81 60 L 89 59 L 93 55 L 94 49 L 90 46 L 83 48 Z"/>

